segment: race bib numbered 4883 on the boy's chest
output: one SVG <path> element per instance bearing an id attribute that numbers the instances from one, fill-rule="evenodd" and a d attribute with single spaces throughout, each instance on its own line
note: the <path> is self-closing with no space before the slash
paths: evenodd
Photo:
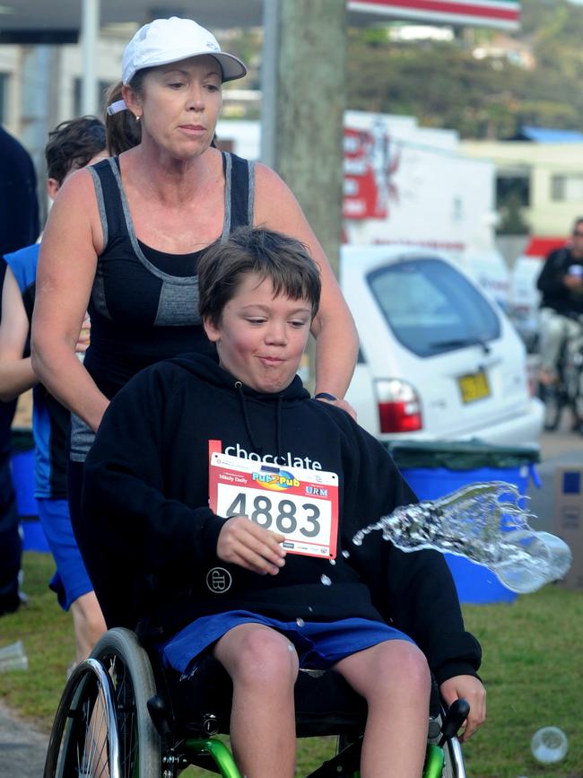
<path id="1" fill-rule="evenodd" d="M 209 505 L 218 516 L 247 516 L 285 536 L 288 554 L 335 559 L 338 476 L 322 470 L 278 468 L 213 452 Z"/>

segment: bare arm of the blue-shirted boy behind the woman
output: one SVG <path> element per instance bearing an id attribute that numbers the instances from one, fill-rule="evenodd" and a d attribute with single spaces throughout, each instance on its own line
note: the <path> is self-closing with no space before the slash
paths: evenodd
<path id="1" fill-rule="evenodd" d="M 0 322 L 0 400 L 3 402 L 17 398 L 38 383 L 30 364 L 30 356 L 24 356 L 29 329 L 29 318 L 24 309 L 21 290 L 13 271 L 7 267 Z"/>

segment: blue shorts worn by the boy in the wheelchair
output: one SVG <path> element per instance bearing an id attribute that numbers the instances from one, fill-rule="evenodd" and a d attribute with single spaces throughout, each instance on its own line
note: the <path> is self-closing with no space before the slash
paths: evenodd
<path id="1" fill-rule="evenodd" d="M 337 661 L 356 651 L 387 640 L 414 641 L 405 633 L 384 622 L 365 618 L 344 618 L 331 622 L 278 621 L 247 610 L 202 616 L 185 626 L 166 643 L 161 643 L 164 663 L 186 674 L 196 667 L 197 657 L 216 643 L 223 634 L 241 624 L 263 624 L 285 635 L 300 658 L 300 668 L 329 669 Z M 194 667 L 193 667 L 194 665 Z"/>

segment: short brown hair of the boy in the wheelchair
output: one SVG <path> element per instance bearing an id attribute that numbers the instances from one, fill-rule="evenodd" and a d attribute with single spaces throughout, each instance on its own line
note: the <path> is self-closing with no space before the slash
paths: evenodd
<path id="1" fill-rule="evenodd" d="M 198 312 L 215 327 L 225 305 L 237 293 L 243 277 L 256 273 L 269 278 L 274 295 L 307 300 L 312 319 L 320 302 L 320 274 L 308 249 L 299 240 L 281 232 L 257 227 L 239 227 L 228 240 L 217 240 L 198 260 Z"/>

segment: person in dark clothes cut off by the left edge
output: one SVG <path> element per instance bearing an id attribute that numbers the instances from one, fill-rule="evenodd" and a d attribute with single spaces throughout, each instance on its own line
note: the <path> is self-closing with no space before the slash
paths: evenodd
<path id="1" fill-rule="evenodd" d="M 0 256 L 39 237 L 37 176 L 30 154 L 0 127 Z M 6 263 L 0 262 L 0 293 Z M 0 311 L 2 310 L 0 303 Z M 0 402 L 0 616 L 21 604 L 22 541 L 10 470 L 10 430 L 16 402 Z"/>

